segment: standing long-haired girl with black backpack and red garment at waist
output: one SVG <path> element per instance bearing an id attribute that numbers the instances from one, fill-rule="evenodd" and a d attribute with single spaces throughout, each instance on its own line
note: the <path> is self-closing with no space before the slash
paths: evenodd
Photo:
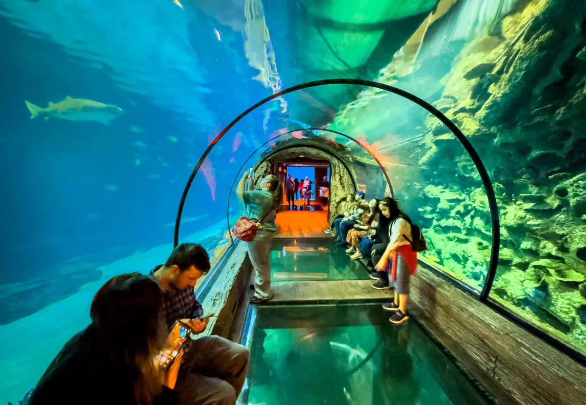
<path id="1" fill-rule="evenodd" d="M 379 272 L 379 282 L 373 285 L 375 289 L 394 288 L 394 300 L 389 304 L 384 304 L 383 309 L 394 312 L 389 318 L 394 324 L 401 324 L 408 320 L 407 300 L 409 297 L 409 284 L 411 274 L 417 269 L 417 252 L 413 250 L 410 241 L 413 241 L 411 235 L 411 219 L 404 214 L 398 207 L 397 201 L 393 198 L 384 198 L 383 215 L 391 220 L 389 226 L 389 241 L 376 263 L 376 270 Z M 390 276 L 390 280 L 389 280 Z"/>

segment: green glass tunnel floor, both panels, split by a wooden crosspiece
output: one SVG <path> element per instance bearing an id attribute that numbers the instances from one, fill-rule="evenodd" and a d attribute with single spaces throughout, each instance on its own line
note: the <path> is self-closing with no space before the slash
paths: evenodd
<path id="1" fill-rule="evenodd" d="M 344 250 L 333 238 L 274 239 L 275 299 L 249 307 L 250 368 L 238 403 L 492 403 L 415 319 L 390 324 L 381 308 L 390 294 L 371 289 L 366 268 Z M 311 286 L 320 287 L 284 297 Z M 336 286 L 340 298 L 362 288 L 373 299 L 319 303 L 336 300 Z"/>

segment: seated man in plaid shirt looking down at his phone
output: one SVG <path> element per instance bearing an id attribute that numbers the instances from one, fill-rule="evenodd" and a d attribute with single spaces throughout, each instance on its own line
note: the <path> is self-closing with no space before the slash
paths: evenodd
<path id="1" fill-rule="evenodd" d="M 163 290 L 162 310 L 169 329 L 175 321 L 190 325 L 197 334 L 206 330 L 209 318 L 200 319 L 202 306 L 195 299 L 195 283 L 210 269 L 210 259 L 201 245 L 182 243 L 173 249 L 164 265 L 151 270 Z M 186 342 L 175 390 L 190 405 L 233 405 L 244 385 L 248 349 L 219 336 Z"/>

